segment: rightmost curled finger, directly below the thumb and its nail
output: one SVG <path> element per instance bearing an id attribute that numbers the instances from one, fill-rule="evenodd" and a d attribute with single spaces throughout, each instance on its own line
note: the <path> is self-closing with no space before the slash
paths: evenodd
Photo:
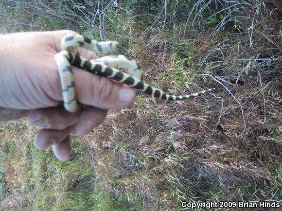
<path id="1" fill-rule="evenodd" d="M 76 123 L 76 132 L 83 135 L 101 124 L 106 118 L 107 110 L 87 106 L 83 109 Z"/>

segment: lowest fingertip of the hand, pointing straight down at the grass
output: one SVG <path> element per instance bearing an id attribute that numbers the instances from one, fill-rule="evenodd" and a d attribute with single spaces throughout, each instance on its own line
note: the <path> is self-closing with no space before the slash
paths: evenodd
<path id="1" fill-rule="evenodd" d="M 62 161 L 66 161 L 71 157 L 71 139 L 67 136 L 63 141 L 52 146 L 54 155 Z"/>

